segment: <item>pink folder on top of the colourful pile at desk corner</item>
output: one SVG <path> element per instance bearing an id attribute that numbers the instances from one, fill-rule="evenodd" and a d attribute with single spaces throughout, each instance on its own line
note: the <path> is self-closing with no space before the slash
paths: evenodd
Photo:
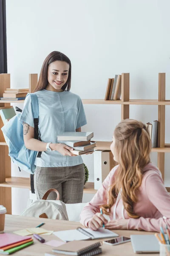
<path id="1" fill-rule="evenodd" d="M 11 233 L 0 234 L 0 248 L 30 239 L 30 236 L 18 236 Z"/>

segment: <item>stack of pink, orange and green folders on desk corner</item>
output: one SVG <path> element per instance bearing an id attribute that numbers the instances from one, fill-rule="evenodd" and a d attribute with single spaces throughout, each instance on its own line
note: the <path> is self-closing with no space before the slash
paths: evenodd
<path id="1" fill-rule="evenodd" d="M 8 255 L 33 243 L 34 241 L 31 237 L 3 233 L 0 234 L 0 254 Z"/>

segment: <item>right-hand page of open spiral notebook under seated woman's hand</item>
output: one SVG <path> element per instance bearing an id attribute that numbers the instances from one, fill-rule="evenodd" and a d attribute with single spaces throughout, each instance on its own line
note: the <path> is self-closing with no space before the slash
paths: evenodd
<path id="1" fill-rule="evenodd" d="M 109 238 L 109 237 L 117 237 L 118 234 L 112 232 L 111 230 L 107 230 L 104 228 L 99 228 L 98 230 L 94 231 L 90 228 L 83 228 L 85 231 L 91 233 L 94 236 L 94 239 L 100 239 L 100 238 Z"/>

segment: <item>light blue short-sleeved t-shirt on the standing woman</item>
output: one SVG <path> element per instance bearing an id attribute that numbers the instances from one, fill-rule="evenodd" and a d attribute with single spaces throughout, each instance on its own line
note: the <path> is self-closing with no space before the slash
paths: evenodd
<path id="1" fill-rule="evenodd" d="M 85 111 L 80 97 L 70 91 L 60 93 L 40 90 L 36 92 L 39 103 L 38 129 L 43 142 L 57 143 L 58 134 L 64 131 L 76 131 L 86 125 Z M 24 102 L 20 120 L 34 127 L 31 110 L 31 96 Z M 58 151 L 43 151 L 36 157 L 34 164 L 40 167 L 76 166 L 83 163 L 81 156 L 63 156 Z"/>

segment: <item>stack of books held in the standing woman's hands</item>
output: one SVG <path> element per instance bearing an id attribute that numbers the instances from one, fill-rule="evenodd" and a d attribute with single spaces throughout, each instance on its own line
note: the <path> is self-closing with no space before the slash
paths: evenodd
<path id="1" fill-rule="evenodd" d="M 57 142 L 74 148 L 74 150 L 70 150 L 73 154 L 89 154 L 93 153 L 96 147 L 96 142 L 91 141 L 93 136 L 93 132 L 63 132 L 57 136 Z"/>

